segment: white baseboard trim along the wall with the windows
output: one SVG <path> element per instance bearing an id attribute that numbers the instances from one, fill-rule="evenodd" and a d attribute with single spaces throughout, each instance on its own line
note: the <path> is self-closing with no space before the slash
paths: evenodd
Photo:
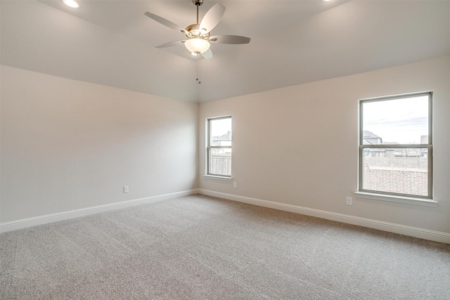
<path id="1" fill-rule="evenodd" d="M 308 207 L 300 207 L 293 204 L 285 204 L 280 202 L 273 202 L 267 200 L 260 200 L 251 197 L 244 197 L 238 195 L 231 195 L 227 193 L 214 192 L 212 190 L 198 189 L 198 192 L 203 195 L 219 197 L 226 200 L 233 200 L 237 202 L 244 202 L 248 204 L 258 205 L 260 207 L 269 207 L 271 209 L 278 209 L 282 211 L 290 211 L 297 214 L 304 214 L 307 216 L 316 216 L 321 219 L 331 221 L 338 221 L 367 228 L 387 231 L 390 233 L 398 233 L 401 235 L 408 235 L 411 237 L 418 237 L 424 240 L 432 240 L 435 242 L 444 242 L 450 244 L 450 233 L 443 233 L 440 231 L 428 230 L 424 228 L 417 228 L 412 226 L 405 226 L 397 223 L 390 223 L 378 221 L 373 219 L 361 218 L 359 216 L 350 216 L 347 214 L 338 214 L 332 211 L 323 211 L 321 209 L 311 209 Z"/>

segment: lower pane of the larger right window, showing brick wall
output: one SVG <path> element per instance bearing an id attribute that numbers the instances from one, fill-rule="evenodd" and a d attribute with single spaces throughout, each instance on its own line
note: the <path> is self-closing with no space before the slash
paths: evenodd
<path id="1" fill-rule="evenodd" d="M 362 188 L 428 196 L 428 149 L 363 149 Z"/>

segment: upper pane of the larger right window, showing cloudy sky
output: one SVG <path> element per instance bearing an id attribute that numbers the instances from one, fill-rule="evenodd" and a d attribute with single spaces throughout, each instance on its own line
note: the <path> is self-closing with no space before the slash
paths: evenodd
<path id="1" fill-rule="evenodd" d="M 428 144 L 428 96 L 362 103 L 365 145 Z"/>

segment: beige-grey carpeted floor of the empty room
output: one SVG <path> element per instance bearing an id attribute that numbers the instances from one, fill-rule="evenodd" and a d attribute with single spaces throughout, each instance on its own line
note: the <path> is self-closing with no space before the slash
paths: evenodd
<path id="1" fill-rule="evenodd" d="M 0 299 L 450 299 L 450 244 L 193 195 L 0 235 Z"/>

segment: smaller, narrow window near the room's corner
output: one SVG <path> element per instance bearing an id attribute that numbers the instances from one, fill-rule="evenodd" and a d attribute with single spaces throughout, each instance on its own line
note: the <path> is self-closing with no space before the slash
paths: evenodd
<path id="1" fill-rule="evenodd" d="M 231 178 L 231 117 L 207 119 L 207 175 Z"/>

